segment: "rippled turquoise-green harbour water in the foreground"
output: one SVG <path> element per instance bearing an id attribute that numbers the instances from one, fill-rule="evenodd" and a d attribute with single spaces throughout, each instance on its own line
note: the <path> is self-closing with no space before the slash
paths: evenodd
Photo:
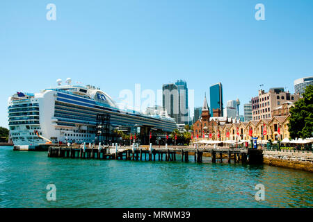
<path id="1" fill-rule="evenodd" d="M 255 200 L 259 183 L 264 201 Z M 46 198 L 49 184 L 56 201 Z M 312 186 L 312 173 L 266 165 L 73 160 L 0 147 L 0 207 L 313 207 Z"/>

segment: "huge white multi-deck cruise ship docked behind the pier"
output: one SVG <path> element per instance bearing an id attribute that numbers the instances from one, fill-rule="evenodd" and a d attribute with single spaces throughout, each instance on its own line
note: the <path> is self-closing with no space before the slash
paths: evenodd
<path id="1" fill-rule="evenodd" d="M 65 85 L 31 94 L 17 92 L 8 99 L 8 125 L 15 146 L 39 146 L 67 142 L 93 143 L 97 139 L 97 114 L 109 115 L 111 130 L 118 127 L 172 132 L 175 119 L 122 110 L 109 94 L 87 85 Z M 47 140 L 47 141 L 46 141 Z"/>

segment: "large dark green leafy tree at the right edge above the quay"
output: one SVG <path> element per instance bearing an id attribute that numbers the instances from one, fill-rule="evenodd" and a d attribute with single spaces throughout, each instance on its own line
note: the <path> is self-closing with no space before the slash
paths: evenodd
<path id="1" fill-rule="evenodd" d="M 291 139 L 310 138 L 313 132 L 313 85 L 308 85 L 303 98 L 290 108 L 288 128 Z"/>

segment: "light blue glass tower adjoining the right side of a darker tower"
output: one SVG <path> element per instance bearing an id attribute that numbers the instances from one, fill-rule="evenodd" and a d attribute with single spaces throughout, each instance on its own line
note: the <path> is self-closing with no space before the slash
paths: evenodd
<path id="1" fill-rule="evenodd" d="M 178 90 L 178 121 L 179 124 L 188 124 L 188 88 L 187 83 L 184 80 L 177 80 L 175 83 Z"/>

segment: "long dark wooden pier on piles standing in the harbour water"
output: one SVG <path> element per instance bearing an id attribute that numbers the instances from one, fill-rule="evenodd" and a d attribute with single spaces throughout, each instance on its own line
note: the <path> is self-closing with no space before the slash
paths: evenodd
<path id="1" fill-rule="evenodd" d="M 180 157 L 177 157 L 180 155 Z M 241 162 L 246 164 L 262 164 L 262 150 L 246 148 L 185 148 L 185 147 L 118 147 L 105 146 L 104 148 L 75 148 L 67 146 L 51 146 L 48 148 L 48 157 L 99 159 L 99 160 L 126 160 L 126 161 L 166 161 L 166 162 L 203 162 L 203 157 L 211 157 L 211 162 Z"/>

